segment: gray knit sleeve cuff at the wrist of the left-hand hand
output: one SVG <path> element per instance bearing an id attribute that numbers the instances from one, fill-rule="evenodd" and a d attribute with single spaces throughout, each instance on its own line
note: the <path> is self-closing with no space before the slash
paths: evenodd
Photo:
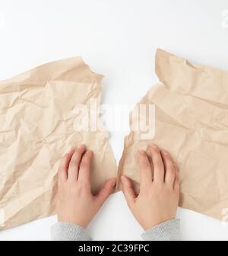
<path id="1" fill-rule="evenodd" d="M 53 241 L 90 241 L 91 238 L 81 226 L 71 222 L 58 222 L 52 226 Z"/>

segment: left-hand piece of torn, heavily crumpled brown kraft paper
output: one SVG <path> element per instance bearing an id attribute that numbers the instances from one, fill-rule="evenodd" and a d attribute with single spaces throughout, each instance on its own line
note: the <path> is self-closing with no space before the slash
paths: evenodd
<path id="1" fill-rule="evenodd" d="M 72 146 L 84 143 L 94 152 L 94 193 L 116 177 L 107 131 L 73 128 L 81 122 L 76 105 L 90 107 L 90 98 L 100 104 L 102 78 L 76 57 L 0 82 L 1 229 L 55 213 L 59 160 Z"/>

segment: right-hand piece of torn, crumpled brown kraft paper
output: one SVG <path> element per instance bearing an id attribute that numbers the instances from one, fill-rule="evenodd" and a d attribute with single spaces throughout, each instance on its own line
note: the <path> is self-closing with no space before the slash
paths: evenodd
<path id="1" fill-rule="evenodd" d="M 179 165 L 179 206 L 223 219 L 228 208 L 228 72 L 163 50 L 157 50 L 156 72 L 163 85 L 154 85 L 138 103 L 155 104 L 154 139 L 141 139 L 141 132 L 131 130 L 119 175 L 127 175 L 139 190 L 136 153 L 157 143 Z M 148 115 L 141 118 L 148 121 Z"/>

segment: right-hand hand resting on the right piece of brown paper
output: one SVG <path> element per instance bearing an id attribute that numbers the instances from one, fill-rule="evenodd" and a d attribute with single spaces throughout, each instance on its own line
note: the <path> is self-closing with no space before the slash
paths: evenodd
<path id="1" fill-rule="evenodd" d="M 121 177 L 122 190 L 128 206 L 144 230 L 176 217 L 179 202 L 179 171 L 168 152 L 150 146 L 147 153 L 138 153 L 140 192 L 138 197 L 131 180 Z"/>

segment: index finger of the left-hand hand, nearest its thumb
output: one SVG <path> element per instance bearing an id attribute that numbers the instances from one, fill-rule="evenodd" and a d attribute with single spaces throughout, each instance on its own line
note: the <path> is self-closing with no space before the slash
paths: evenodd
<path id="1" fill-rule="evenodd" d="M 78 171 L 78 181 L 81 183 L 90 183 L 90 165 L 93 158 L 93 152 L 88 150 L 81 158 L 81 163 Z"/>

